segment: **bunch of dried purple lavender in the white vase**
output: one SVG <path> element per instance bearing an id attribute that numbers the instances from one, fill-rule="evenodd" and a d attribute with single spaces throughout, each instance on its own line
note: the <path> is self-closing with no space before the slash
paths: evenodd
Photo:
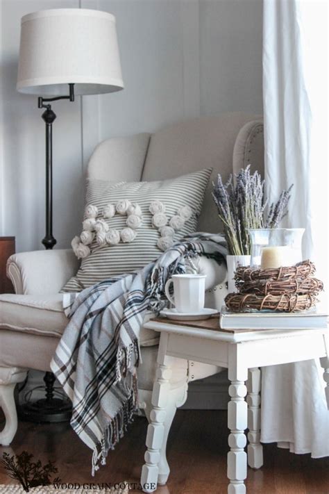
<path id="1" fill-rule="evenodd" d="M 217 183 L 213 183 L 212 197 L 218 208 L 223 223 L 228 252 L 236 256 L 250 254 L 250 228 L 276 228 L 282 217 L 287 215 L 290 191 L 283 190 L 278 201 L 271 204 L 269 214 L 265 217 L 267 201 L 264 199 L 264 181 L 258 172 L 251 174 L 251 165 L 233 175 L 223 184 L 220 174 Z"/>

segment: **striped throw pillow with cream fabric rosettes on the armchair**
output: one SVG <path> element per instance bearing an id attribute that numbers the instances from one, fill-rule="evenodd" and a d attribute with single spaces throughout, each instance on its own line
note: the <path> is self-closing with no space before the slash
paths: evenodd
<path id="1" fill-rule="evenodd" d="M 106 210 L 106 206 L 109 204 L 112 205 L 110 208 L 113 208 L 119 201 L 126 200 L 130 204 L 140 206 L 142 224 L 135 229 L 133 241 L 123 242 L 121 240 L 116 245 L 108 245 L 106 241 L 100 245 L 100 241 L 96 240 L 96 232 L 92 232 L 93 240 L 90 238 L 87 242 L 87 249 L 80 244 L 82 252 L 87 250 L 90 253 L 82 259 L 81 267 L 76 276 L 72 277 L 61 291 L 81 291 L 104 279 L 140 270 L 146 264 L 155 261 L 168 245 L 166 242 L 165 245 L 160 245 L 161 242 L 159 242 L 162 233 L 160 233 L 160 228 L 154 226 L 153 214 L 150 212 L 150 206 L 154 204 L 154 201 L 165 206 L 167 226 L 176 227 L 171 230 L 173 233 L 172 241 L 176 242 L 187 234 L 196 231 L 211 172 L 212 169 L 207 168 L 176 179 L 154 182 L 113 183 L 95 179 L 87 180 L 86 201 L 87 205 L 96 206 L 96 208 L 92 208 L 93 211 L 97 212 L 94 218 L 96 222 L 101 220 L 102 225 L 102 222 L 106 222 L 108 225 L 106 229 L 111 229 L 111 231 L 114 229 L 119 234 L 122 233 L 123 229 L 127 227 L 128 216 L 116 213 L 112 217 L 104 217 L 103 213 L 109 211 L 109 209 Z M 184 206 L 189 207 L 184 208 Z M 177 215 L 182 211 L 183 216 L 184 211 L 189 211 L 189 214 L 186 215 L 187 217 L 183 222 L 180 222 L 179 219 L 177 221 Z M 176 217 L 176 220 L 172 220 L 173 217 Z M 84 220 L 86 219 L 85 212 Z M 167 231 L 170 232 L 170 229 L 166 230 L 165 234 Z M 81 239 L 85 241 L 83 236 L 74 241 L 81 242 Z"/>

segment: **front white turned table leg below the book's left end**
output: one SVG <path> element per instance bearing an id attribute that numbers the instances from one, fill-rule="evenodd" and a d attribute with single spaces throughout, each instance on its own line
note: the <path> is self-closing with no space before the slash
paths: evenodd
<path id="1" fill-rule="evenodd" d="M 229 349 L 228 379 L 230 387 L 228 394 L 228 494 L 245 494 L 246 486 L 244 479 L 247 473 L 247 455 L 244 451 L 246 446 L 246 435 L 244 431 L 247 427 L 248 406 L 244 397 L 246 396 L 246 386 L 244 381 L 248 377 L 248 370 L 239 363 L 237 345 L 232 345 Z"/>

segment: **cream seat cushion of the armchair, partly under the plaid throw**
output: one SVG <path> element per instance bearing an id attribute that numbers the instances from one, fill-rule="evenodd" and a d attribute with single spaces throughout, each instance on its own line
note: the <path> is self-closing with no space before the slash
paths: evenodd
<path id="1" fill-rule="evenodd" d="M 20 331 L 24 334 L 60 338 L 68 319 L 62 309 L 62 294 L 0 295 L 0 331 Z M 157 345 L 158 333 L 142 328 L 141 346 Z"/>

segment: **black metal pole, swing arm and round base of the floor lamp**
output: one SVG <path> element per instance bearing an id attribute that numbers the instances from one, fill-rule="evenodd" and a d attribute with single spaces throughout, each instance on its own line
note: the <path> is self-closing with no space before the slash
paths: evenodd
<path id="1" fill-rule="evenodd" d="M 49 250 L 56 245 L 56 238 L 53 237 L 53 122 L 56 113 L 51 109 L 51 101 L 58 99 L 69 99 L 74 101 L 74 84 L 69 84 L 69 95 L 56 96 L 53 98 L 37 99 L 38 108 L 46 108 L 42 113 L 42 120 L 46 124 L 46 235 L 42 239 L 42 244 Z M 46 385 L 46 397 L 36 402 L 27 402 L 19 409 L 19 415 L 32 422 L 66 422 L 71 418 L 71 402 L 54 398 L 54 387 L 56 378 L 52 372 L 44 374 L 44 384 Z"/>

